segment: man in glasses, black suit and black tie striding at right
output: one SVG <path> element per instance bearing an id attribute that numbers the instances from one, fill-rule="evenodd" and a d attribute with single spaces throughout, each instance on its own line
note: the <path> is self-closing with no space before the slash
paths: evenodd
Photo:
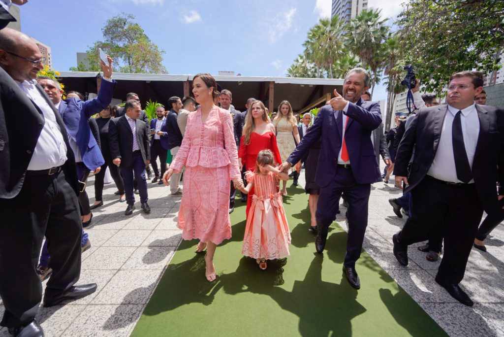
<path id="1" fill-rule="evenodd" d="M 399 144 L 394 168 L 396 186 L 406 184 L 414 209 L 393 236 L 394 255 L 407 265 L 407 246 L 442 227 L 445 254 L 435 280 L 467 306 L 473 302 L 459 283 L 483 210 L 499 211 L 495 182 L 504 184 L 504 111 L 474 104 L 482 86 L 479 72 L 452 75 L 448 104 L 418 111 Z"/>

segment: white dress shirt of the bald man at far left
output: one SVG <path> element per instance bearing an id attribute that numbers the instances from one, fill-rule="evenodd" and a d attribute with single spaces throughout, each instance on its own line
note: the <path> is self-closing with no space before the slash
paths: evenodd
<path id="1" fill-rule="evenodd" d="M 67 161 L 67 145 L 59 129 L 56 116 L 40 91 L 35 86 L 36 82 L 18 82 L 19 87 L 26 93 L 42 111 L 45 123 L 38 137 L 27 170 L 48 170 L 51 167 L 61 166 Z"/>

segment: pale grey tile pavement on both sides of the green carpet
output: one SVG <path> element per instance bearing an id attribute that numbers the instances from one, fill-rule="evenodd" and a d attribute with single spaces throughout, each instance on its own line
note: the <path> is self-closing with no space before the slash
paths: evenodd
<path id="1" fill-rule="evenodd" d="M 304 174 L 299 182 L 304 185 Z M 37 319 L 47 336 L 129 336 L 181 241 L 176 227 L 180 198 L 170 196 L 168 188 L 149 184 L 151 214 L 137 202 L 131 216 L 124 216 L 126 204 L 118 202 L 115 190 L 113 183 L 105 185 L 105 204 L 93 211 L 93 227 L 86 231 L 92 247 L 82 256 L 79 283 L 96 282 L 98 290 L 65 305 L 40 307 Z M 93 177 L 87 191 L 92 203 Z M 398 218 L 388 199 L 400 195 L 392 183 L 372 186 L 366 252 L 450 335 L 504 336 L 504 227 L 486 240 L 487 253 L 471 252 L 461 284 L 475 302 L 469 308 L 434 282 L 439 262 L 427 261 L 416 249 L 420 243 L 409 247 L 407 267 L 396 261 L 392 235 L 406 217 Z M 340 209 L 337 221 L 347 230 L 346 209 Z M 3 311 L 0 305 L 0 315 Z M 0 329 L 0 337 L 7 335 Z"/>

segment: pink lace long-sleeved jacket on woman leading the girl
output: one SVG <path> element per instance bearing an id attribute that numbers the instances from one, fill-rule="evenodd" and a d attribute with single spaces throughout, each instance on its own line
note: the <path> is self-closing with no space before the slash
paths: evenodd
<path id="1" fill-rule="evenodd" d="M 182 167 L 222 167 L 229 165 L 229 177 L 239 178 L 238 150 L 234 140 L 233 120 L 227 110 L 213 108 L 205 123 L 201 123 L 201 109 L 187 118 L 182 145 L 170 164 Z"/>

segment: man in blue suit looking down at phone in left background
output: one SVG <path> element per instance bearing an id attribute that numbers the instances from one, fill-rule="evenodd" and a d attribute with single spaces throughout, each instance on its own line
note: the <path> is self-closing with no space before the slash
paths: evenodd
<path id="1" fill-rule="evenodd" d="M 163 177 L 166 171 L 166 155 L 168 151 L 168 132 L 166 131 L 166 118 L 164 117 L 164 107 L 158 106 L 156 108 L 156 116 L 158 118 L 151 121 L 151 165 L 154 170 L 154 179 L 151 183 L 159 180 L 158 185 L 163 184 Z M 157 168 L 157 157 L 159 156 L 160 170 Z"/>

